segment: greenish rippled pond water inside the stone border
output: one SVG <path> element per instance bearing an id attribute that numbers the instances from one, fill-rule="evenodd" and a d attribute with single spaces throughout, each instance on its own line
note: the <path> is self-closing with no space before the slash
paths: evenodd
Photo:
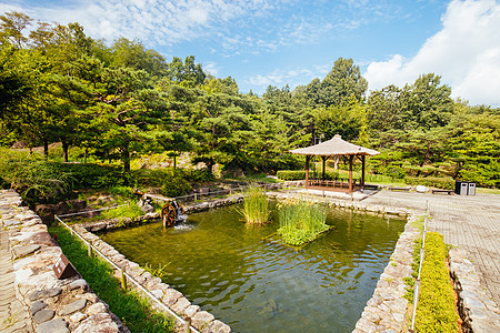
<path id="1" fill-rule="evenodd" d="M 297 252 L 261 241 L 279 222 L 248 228 L 227 206 L 180 228 L 153 223 L 101 238 L 140 265 L 167 265 L 163 282 L 233 332 L 351 332 L 404 222 L 331 209 L 336 229 Z"/>

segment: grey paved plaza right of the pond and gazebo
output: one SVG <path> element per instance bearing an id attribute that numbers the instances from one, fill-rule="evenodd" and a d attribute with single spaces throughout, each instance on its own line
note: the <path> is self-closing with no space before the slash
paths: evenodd
<path id="1" fill-rule="evenodd" d="M 500 306 L 500 195 L 447 195 L 380 191 L 363 200 L 371 204 L 426 210 L 429 201 L 429 231 L 444 235 L 444 242 L 466 249 L 482 273 L 481 284 Z"/>

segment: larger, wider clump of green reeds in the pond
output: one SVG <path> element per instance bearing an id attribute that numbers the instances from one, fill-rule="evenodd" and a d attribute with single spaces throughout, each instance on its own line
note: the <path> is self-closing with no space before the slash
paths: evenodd
<path id="1" fill-rule="evenodd" d="M 287 244 L 300 246 L 330 229 L 326 224 L 327 205 L 303 198 L 288 199 L 278 204 L 278 234 Z"/>

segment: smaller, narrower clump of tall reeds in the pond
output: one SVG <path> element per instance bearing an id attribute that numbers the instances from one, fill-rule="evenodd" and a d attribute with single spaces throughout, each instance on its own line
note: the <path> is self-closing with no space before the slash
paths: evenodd
<path id="1" fill-rule="evenodd" d="M 238 212 L 249 224 L 264 224 L 269 220 L 268 196 L 261 188 L 250 188 L 243 199 L 243 208 Z"/>

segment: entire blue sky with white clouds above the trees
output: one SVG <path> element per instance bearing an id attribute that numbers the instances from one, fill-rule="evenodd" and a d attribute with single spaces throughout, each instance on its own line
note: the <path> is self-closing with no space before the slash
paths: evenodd
<path id="1" fill-rule="evenodd" d="M 241 92 L 294 89 L 352 58 L 369 91 L 432 72 L 452 98 L 500 108 L 496 0 L 0 0 L 13 10 L 108 43 L 138 39 L 168 61 L 194 56 Z"/>

